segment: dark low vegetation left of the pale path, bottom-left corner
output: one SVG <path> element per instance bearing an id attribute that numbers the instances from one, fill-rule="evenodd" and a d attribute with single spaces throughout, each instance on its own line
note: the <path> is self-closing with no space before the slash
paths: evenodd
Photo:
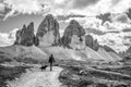
<path id="1" fill-rule="evenodd" d="M 2 66 L 0 65 L 0 87 L 8 87 L 7 80 L 12 80 L 15 78 L 19 78 L 22 73 L 25 73 L 26 69 L 29 69 L 28 66 Z"/>

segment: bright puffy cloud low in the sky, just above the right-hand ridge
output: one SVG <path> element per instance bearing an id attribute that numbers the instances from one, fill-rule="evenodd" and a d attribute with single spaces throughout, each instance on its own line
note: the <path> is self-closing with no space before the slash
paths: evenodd
<path id="1" fill-rule="evenodd" d="M 95 39 L 98 40 L 99 45 L 109 46 L 112 48 L 116 52 L 126 51 L 129 47 L 126 46 L 126 44 L 130 44 L 128 39 L 123 39 L 126 36 L 130 36 L 130 33 L 108 33 L 105 35 L 94 35 L 91 34 Z"/>

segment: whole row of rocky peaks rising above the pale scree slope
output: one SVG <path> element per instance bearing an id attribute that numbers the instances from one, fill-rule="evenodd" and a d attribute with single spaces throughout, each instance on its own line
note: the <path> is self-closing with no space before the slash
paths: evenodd
<path id="1" fill-rule="evenodd" d="M 85 29 L 75 20 L 70 22 L 62 38 L 60 38 L 59 23 L 51 14 L 45 16 L 38 27 L 36 36 L 34 35 L 33 22 L 28 26 L 23 25 L 23 28 L 16 33 L 16 41 L 14 44 L 22 46 L 39 45 L 44 47 L 62 45 L 63 47 L 75 49 L 90 47 L 95 51 L 99 48 L 97 40 L 94 40 L 91 35 L 85 35 Z M 106 46 L 103 48 L 106 51 L 114 51 Z"/>

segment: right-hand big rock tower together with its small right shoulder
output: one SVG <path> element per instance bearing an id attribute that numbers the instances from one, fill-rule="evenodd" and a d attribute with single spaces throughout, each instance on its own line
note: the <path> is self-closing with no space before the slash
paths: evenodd
<path id="1" fill-rule="evenodd" d="M 75 20 L 72 20 L 66 28 L 61 42 L 64 47 L 75 49 L 90 47 L 97 51 L 99 48 L 97 40 L 94 40 L 91 35 L 85 35 L 85 29 Z"/>

